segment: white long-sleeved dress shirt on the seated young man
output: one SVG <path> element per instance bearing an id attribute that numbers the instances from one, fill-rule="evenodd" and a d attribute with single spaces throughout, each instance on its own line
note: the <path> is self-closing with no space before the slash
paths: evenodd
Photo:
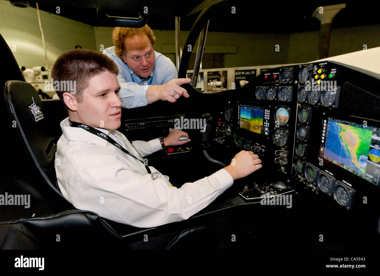
<path id="1" fill-rule="evenodd" d="M 63 196 L 75 208 L 136 227 L 155 227 L 188 219 L 231 187 L 233 179 L 218 170 L 180 189 L 163 177 L 153 180 L 143 162 L 66 118 L 57 143 L 55 171 Z M 161 149 L 160 140 L 131 143 L 117 130 L 96 128 L 139 159 Z M 149 164 L 148 164 L 149 165 Z M 157 172 L 149 167 L 152 173 Z M 175 168 L 173 168 L 175 169 Z M 189 172 L 191 173 L 191 172 Z"/>

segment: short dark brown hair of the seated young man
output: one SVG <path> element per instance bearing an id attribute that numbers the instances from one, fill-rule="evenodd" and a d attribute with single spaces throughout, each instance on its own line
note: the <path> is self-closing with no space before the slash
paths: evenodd
<path id="1" fill-rule="evenodd" d="M 119 68 L 115 62 L 106 55 L 89 49 L 69 50 L 61 54 L 54 62 L 51 70 L 52 82 L 54 79 L 52 85 L 61 102 L 68 109 L 65 102 L 63 102 L 63 92 L 70 92 L 78 102 L 82 102 L 82 91 L 89 86 L 90 78 L 105 71 L 109 71 L 116 76 L 119 74 Z M 70 86 L 64 91 L 55 89 L 55 83 L 59 84 L 67 81 L 75 81 L 75 91 L 72 91 Z"/>

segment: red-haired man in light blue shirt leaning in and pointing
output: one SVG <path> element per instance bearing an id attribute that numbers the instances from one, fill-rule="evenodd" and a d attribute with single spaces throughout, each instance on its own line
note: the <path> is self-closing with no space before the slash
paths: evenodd
<path id="1" fill-rule="evenodd" d="M 153 50 L 156 38 L 148 25 L 142 28 L 116 27 L 112 34 L 114 45 L 103 54 L 119 67 L 117 80 L 122 106 L 145 106 L 157 100 L 176 102 L 188 98 L 181 84 L 190 79 L 177 79 L 177 71 L 168 57 Z"/>

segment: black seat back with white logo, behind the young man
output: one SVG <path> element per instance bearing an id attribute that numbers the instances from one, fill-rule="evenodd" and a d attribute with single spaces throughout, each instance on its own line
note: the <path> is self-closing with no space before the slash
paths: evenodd
<path id="1" fill-rule="evenodd" d="M 7 81 L 4 93 L 9 113 L 16 121 L 22 143 L 41 181 L 41 190 L 47 192 L 47 200 L 57 211 L 75 209 L 61 194 L 55 176 L 54 163 L 59 162 L 55 160 L 55 151 L 62 133 L 57 131 L 59 122 L 53 123 L 45 117 L 41 99 L 31 84 Z"/>

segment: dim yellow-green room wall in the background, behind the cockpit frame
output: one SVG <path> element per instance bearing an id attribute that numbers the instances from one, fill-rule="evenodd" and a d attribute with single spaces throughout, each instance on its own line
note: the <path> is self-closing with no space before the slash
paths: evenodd
<path id="1" fill-rule="evenodd" d="M 104 48 L 113 46 L 111 27 L 93 27 L 45 11 L 40 11 L 40 15 L 50 66 L 62 52 L 78 44 L 97 51 L 100 51 L 101 45 Z M 8 1 L 0 1 L 0 33 L 13 50 L 19 65 L 27 68 L 45 66 L 36 9 L 17 8 Z M 174 62 L 174 31 L 154 30 L 154 33 L 157 38 L 155 50 Z M 185 44 L 188 33 L 181 31 L 181 45 Z M 332 29 L 329 56 L 362 50 L 363 44 L 367 48 L 378 47 L 379 33 L 380 25 Z M 279 51 L 275 51 L 277 44 Z M 317 59 L 317 47 L 318 32 L 209 32 L 205 53 L 223 54 L 223 67 L 244 67 L 309 62 Z"/>

